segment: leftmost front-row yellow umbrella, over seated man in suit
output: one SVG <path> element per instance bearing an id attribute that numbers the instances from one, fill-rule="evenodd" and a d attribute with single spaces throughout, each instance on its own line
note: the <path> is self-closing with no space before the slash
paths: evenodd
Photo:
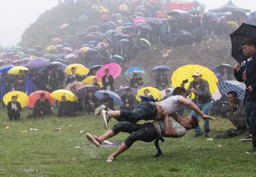
<path id="1" fill-rule="evenodd" d="M 3 96 L 3 102 L 7 105 L 9 101 L 12 101 L 12 96 L 17 97 L 17 102 L 20 103 L 21 108 L 24 108 L 29 103 L 29 96 L 21 91 L 10 91 Z"/>

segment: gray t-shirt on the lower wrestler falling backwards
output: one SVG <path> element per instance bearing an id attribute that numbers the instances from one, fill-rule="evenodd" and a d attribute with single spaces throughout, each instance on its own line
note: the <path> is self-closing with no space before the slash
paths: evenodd
<path id="1" fill-rule="evenodd" d="M 169 120 L 169 124 L 170 124 L 171 128 L 175 129 L 177 132 L 177 134 L 176 134 L 176 136 L 174 136 L 174 138 L 183 137 L 186 134 L 186 128 L 181 126 L 179 123 L 172 122 L 171 120 Z M 162 127 L 162 129 L 161 129 L 161 127 Z M 157 130 L 158 130 L 160 137 L 166 137 L 166 135 L 164 134 L 164 120 L 157 120 Z M 163 132 L 162 132 L 162 130 L 163 130 Z"/>

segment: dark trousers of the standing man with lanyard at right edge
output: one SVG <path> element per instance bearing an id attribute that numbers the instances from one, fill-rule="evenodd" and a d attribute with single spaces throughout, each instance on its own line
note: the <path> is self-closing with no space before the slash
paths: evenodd
<path id="1" fill-rule="evenodd" d="M 256 98 L 246 99 L 244 110 L 246 123 L 249 126 L 250 134 L 253 135 L 253 147 L 256 148 Z"/>

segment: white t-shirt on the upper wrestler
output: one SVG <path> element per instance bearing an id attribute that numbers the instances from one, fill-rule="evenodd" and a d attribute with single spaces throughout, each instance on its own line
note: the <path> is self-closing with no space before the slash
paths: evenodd
<path id="1" fill-rule="evenodd" d="M 165 109 L 170 115 L 177 112 L 177 110 L 180 108 L 181 104 L 180 102 L 178 102 L 178 99 L 180 98 L 184 98 L 184 97 L 181 95 L 175 95 L 175 96 L 168 97 L 165 100 L 160 101 L 156 104 L 161 106 L 162 109 Z"/>

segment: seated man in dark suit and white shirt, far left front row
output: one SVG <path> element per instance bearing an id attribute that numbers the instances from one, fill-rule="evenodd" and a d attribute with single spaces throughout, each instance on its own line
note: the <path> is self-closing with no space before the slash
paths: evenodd
<path id="1" fill-rule="evenodd" d="M 7 104 L 7 111 L 8 111 L 8 117 L 9 120 L 12 120 L 13 118 L 15 120 L 20 119 L 20 111 L 22 111 L 22 108 L 20 106 L 20 103 L 17 101 L 16 96 L 12 96 L 12 101 L 9 101 Z"/>

